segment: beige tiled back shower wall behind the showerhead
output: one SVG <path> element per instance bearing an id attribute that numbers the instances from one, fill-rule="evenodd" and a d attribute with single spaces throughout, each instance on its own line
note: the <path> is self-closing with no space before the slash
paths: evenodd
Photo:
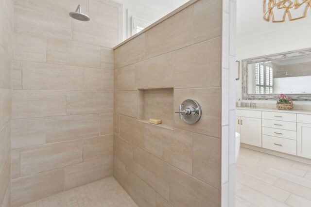
<path id="1" fill-rule="evenodd" d="M 0 8 L 9 1 L 0 0 Z M 0 37 L 12 36 L 13 49 L 7 44 L 0 49 L 6 48 L 8 56 L 1 65 L 13 67 L 12 150 L 7 153 L 12 173 L 1 171 L 0 201 L 7 191 L 1 189 L 6 173 L 12 175 L 12 207 L 18 207 L 112 175 L 112 48 L 119 41 L 122 5 L 111 0 L 11 1 L 14 35 Z M 89 22 L 70 18 L 78 4 Z M 0 43 L 9 42 L 1 38 Z M 1 78 L 2 73 L 10 77 L 4 68 Z M 6 133 L 11 128 L 5 125 L 11 103 L 7 89 L 1 89 Z"/>

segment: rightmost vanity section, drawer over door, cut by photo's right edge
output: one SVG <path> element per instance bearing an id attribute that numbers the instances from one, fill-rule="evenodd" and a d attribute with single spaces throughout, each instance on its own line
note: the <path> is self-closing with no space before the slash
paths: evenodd
<path id="1" fill-rule="evenodd" d="M 297 114 L 297 155 L 311 159 L 310 114 Z"/>

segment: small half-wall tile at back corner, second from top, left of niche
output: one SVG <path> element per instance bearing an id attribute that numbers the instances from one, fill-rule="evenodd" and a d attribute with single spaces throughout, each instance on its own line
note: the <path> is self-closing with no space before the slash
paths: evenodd
<path id="1" fill-rule="evenodd" d="M 115 91 L 136 90 L 135 64 L 131 64 L 115 70 Z"/>

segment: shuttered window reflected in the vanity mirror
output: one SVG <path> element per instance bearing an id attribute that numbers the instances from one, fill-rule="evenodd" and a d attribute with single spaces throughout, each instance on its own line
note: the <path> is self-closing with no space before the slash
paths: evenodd
<path id="1" fill-rule="evenodd" d="M 273 93 L 273 68 L 265 63 L 255 65 L 256 94 Z"/>

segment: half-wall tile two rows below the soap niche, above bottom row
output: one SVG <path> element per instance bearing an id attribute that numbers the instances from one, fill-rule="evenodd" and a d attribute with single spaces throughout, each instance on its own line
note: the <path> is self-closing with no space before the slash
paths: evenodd
<path id="1" fill-rule="evenodd" d="M 137 147 L 134 148 L 134 173 L 169 200 L 169 164 Z"/>

